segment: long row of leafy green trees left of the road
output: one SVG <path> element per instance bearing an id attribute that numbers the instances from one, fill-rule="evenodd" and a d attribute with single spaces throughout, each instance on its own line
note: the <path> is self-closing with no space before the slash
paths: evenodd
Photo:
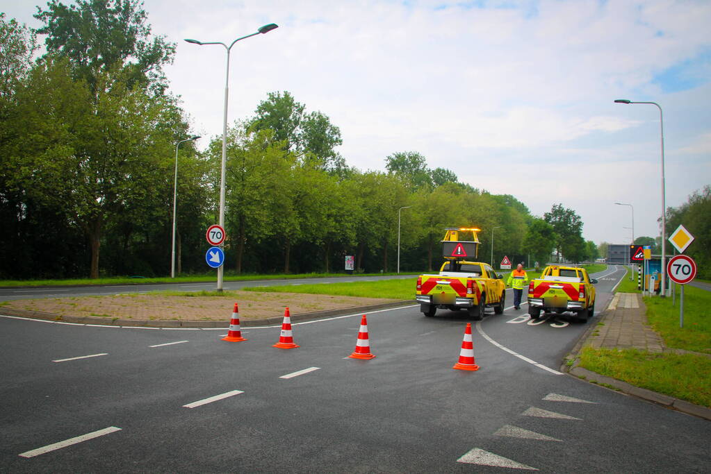
<path id="1" fill-rule="evenodd" d="M 168 275 L 176 143 L 191 136 L 162 71 L 175 45 L 137 0 L 53 0 L 35 17 L 37 31 L 0 13 L 0 278 Z M 33 59 L 38 35 L 46 54 Z M 221 143 L 179 148 L 178 274 L 207 270 Z M 232 123 L 225 270 L 332 272 L 355 255 L 358 271 L 390 272 L 398 241 L 402 270 L 432 270 L 444 228 L 460 225 L 482 229 L 479 260 L 493 252 L 495 265 L 597 257 L 562 204 L 533 216 L 415 151 L 358 170 L 341 144 L 328 116 L 286 91 Z"/>

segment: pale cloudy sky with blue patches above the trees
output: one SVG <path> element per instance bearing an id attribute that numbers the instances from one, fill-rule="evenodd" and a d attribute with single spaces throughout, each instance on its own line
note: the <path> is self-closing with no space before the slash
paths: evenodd
<path id="1" fill-rule="evenodd" d="M 0 0 L 33 28 L 36 5 L 46 3 Z M 152 32 L 176 43 L 164 70 L 205 137 L 198 148 L 222 133 L 227 55 L 183 39 L 229 45 L 277 23 L 232 47 L 230 123 L 289 91 L 340 128 L 348 165 L 385 170 L 388 155 L 417 151 L 536 216 L 574 209 L 596 243 L 629 243 L 632 227 L 658 236 L 663 176 L 666 206 L 711 184 L 708 0 L 144 0 L 144 9 Z M 664 173 L 659 109 L 614 99 L 661 106 Z"/>

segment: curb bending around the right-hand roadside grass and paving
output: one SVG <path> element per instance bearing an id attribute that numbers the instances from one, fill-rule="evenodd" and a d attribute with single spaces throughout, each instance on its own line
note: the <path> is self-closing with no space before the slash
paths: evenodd
<path id="1" fill-rule="evenodd" d="M 598 317 L 602 320 L 603 316 L 606 316 L 607 310 L 599 313 Z M 587 342 L 590 334 L 594 331 L 597 324 L 590 326 L 587 331 L 585 331 L 582 336 L 578 339 L 572 351 L 565 356 L 562 365 L 560 366 L 560 371 L 571 375 L 572 377 L 577 377 L 589 383 L 594 383 L 596 385 L 601 385 L 603 387 L 612 387 L 614 390 L 619 390 L 619 392 L 625 393 L 626 395 L 631 395 L 639 399 L 646 400 L 647 402 L 652 402 L 659 404 L 668 409 L 674 409 L 678 412 L 683 412 L 685 414 L 690 414 L 695 417 L 711 421 L 711 408 L 702 407 L 701 405 L 696 405 L 685 400 L 680 400 L 678 398 L 670 397 L 668 395 L 663 395 L 661 393 L 653 392 L 652 390 L 647 390 L 646 388 L 635 387 L 622 380 L 617 380 L 616 378 L 607 377 L 606 375 L 600 375 L 597 372 L 592 372 L 585 368 L 579 367 L 578 363 L 580 359 L 578 354 L 584 344 Z M 572 360 L 572 366 L 567 365 L 567 361 Z"/>

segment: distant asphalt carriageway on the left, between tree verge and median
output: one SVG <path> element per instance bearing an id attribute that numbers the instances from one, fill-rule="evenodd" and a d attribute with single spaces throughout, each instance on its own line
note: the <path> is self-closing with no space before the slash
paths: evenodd
<path id="1" fill-rule="evenodd" d="M 412 275 L 387 275 L 383 277 L 328 277 L 328 278 L 302 278 L 299 280 L 249 280 L 239 282 L 223 282 L 223 290 L 240 290 L 243 287 L 273 286 L 273 285 L 309 285 L 327 284 L 333 282 L 376 281 L 392 280 L 394 278 L 416 278 Z M 186 282 L 186 283 L 161 283 L 151 285 L 95 285 L 73 287 L 5 287 L 0 288 L 0 301 L 10 299 L 30 298 L 63 298 L 80 296 L 106 296 L 110 294 L 148 293 L 159 291 L 199 292 L 213 291 L 216 282 Z"/>

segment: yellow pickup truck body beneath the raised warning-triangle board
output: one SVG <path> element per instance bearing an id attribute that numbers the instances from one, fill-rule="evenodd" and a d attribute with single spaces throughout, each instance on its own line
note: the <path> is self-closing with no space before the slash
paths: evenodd
<path id="1" fill-rule="evenodd" d="M 506 304 L 506 284 L 488 263 L 449 260 L 437 275 L 419 275 L 415 299 L 425 316 L 434 316 L 437 309 L 466 309 L 471 319 L 483 318 L 484 308 L 493 307 L 503 313 Z"/>

